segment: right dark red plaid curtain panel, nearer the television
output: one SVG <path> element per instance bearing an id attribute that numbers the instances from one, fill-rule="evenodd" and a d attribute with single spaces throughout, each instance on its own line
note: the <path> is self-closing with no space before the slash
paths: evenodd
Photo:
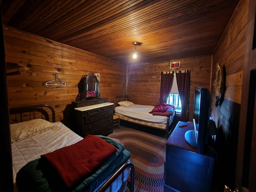
<path id="1" fill-rule="evenodd" d="M 180 113 L 180 121 L 187 122 L 189 118 L 189 94 L 190 94 L 190 70 L 182 73 L 176 72 L 177 86 L 180 95 L 180 102 L 182 105 L 182 110 Z"/>

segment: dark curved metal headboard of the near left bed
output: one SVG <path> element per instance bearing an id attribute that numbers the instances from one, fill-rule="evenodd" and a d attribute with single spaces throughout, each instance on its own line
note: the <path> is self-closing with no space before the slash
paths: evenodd
<path id="1" fill-rule="evenodd" d="M 54 108 L 47 104 L 14 107 L 10 108 L 9 112 L 10 124 L 40 118 L 50 122 L 55 122 Z"/>

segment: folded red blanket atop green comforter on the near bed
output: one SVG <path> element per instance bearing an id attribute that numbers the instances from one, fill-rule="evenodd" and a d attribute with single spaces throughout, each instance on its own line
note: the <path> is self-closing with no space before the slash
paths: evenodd
<path id="1" fill-rule="evenodd" d="M 83 140 L 54 152 L 44 154 L 70 188 L 95 171 L 116 148 L 97 136 L 88 135 Z"/>

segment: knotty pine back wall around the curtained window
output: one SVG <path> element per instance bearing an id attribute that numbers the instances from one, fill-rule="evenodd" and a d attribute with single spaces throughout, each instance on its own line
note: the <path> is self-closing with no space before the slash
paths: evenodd
<path id="1" fill-rule="evenodd" d="M 177 70 L 190 70 L 189 120 L 193 119 L 195 87 L 210 90 L 212 56 L 173 58 L 170 62 L 180 61 Z M 129 100 L 136 104 L 156 105 L 160 98 L 161 72 L 170 70 L 169 62 L 152 62 L 148 64 L 128 65 L 127 94 Z M 175 70 L 174 70 L 175 71 Z"/>

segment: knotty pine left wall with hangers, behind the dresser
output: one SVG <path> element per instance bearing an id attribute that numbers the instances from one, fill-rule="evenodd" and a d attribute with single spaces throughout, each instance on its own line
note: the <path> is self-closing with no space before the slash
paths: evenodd
<path id="1" fill-rule="evenodd" d="M 54 107 L 56 121 L 61 121 L 78 95 L 79 80 L 89 72 L 100 73 L 101 97 L 110 102 L 126 90 L 126 67 L 108 58 L 7 26 L 4 41 L 6 62 L 22 65 L 21 75 L 7 76 L 9 107 L 49 104 Z M 7 72 L 12 71 L 16 68 Z M 56 73 L 67 83 L 64 89 L 42 86 Z"/>

